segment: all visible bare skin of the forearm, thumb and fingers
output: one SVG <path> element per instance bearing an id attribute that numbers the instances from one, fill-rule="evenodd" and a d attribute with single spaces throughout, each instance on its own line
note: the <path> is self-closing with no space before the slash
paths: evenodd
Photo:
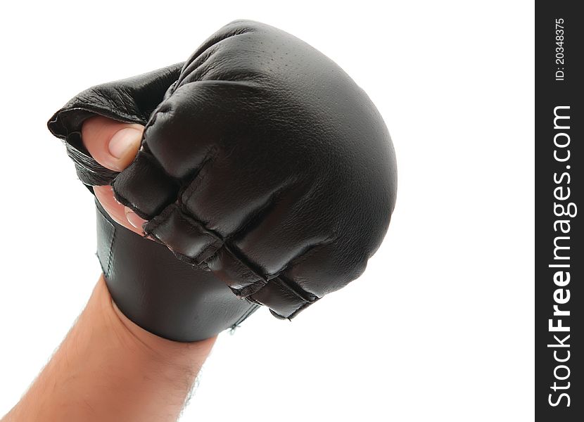
<path id="1" fill-rule="evenodd" d="M 120 171 L 137 154 L 143 130 L 91 117 L 82 139 L 101 165 Z M 142 234 L 145 220 L 116 202 L 109 186 L 94 191 L 116 222 Z M 1 422 L 176 421 L 216 338 L 178 343 L 144 331 L 115 306 L 101 276 L 63 343 Z"/>

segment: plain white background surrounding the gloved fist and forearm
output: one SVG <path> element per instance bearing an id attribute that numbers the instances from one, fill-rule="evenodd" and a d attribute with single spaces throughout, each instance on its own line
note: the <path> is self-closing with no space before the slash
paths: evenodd
<path id="1" fill-rule="evenodd" d="M 46 120 L 250 18 L 367 91 L 398 203 L 360 279 L 292 322 L 262 309 L 220 335 L 182 421 L 532 420 L 531 1 L 131 3 L 2 6 L 0 414 L 99 276 L 91 195 Z"/>

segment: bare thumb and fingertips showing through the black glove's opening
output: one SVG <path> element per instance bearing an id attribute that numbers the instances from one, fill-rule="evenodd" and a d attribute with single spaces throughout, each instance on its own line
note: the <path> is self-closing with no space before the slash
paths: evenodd
<path id="1" fill-rule="evenodd" d="M 144 126 L 95 116 L 85 120 L 81 132 L 83 144 L 89 154 L 103 167 L 121 172 L 138 153 Z M 111 186 L 94 186 L 94 193 L 115 222 L 134 233 L 144 235 L 142 224 L 146 220 L 118 203 Z"/>

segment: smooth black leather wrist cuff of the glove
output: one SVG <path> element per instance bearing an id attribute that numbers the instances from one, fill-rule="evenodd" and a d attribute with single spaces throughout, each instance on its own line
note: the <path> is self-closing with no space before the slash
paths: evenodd
<path id="1" fill-rule="evenodd" d="M 237 298 L 209 271 L 125 229 L 96 200 L 97 256 L 120 310 L 142 328 L 177 341 L 239 326 L 259 305 Z"/>

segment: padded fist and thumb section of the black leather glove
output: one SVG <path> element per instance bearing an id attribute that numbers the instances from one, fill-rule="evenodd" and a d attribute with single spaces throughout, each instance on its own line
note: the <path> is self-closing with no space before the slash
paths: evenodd
<path id="1" fill-rule="evenodd" d="M 146 125 L 119 174 L 82 147 L 80 126 L 95 114 Z M 80 179 L 111 183 L 193 282 L 211 271 L 281 318 L 360 276 L 395 205 L 393 146 L 367 94 L 322 53 L 261 23 L 235 21 L 185 63 L 92 87 L 49 129 L 67 141 Z M 134 288 L 113 295 L 122 312 L 156 302 Z M 165 298 L 158 308 L 177 306 L 196 304 Z"/>

